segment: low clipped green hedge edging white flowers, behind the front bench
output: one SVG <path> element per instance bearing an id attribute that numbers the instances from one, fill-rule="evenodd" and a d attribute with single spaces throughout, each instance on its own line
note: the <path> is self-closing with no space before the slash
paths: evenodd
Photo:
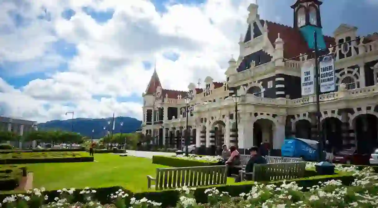
<path id="1" fill-rule="evenodd" d="M 217 165 L 216 162 L 209 162 L 206 160 L 188 160 L 188 159 L 179 158 L 176 156 L 161 156 L 161 155 L 152 156 L 152 163 L 158 164 L 158 165 L 175 167 L 175 168 Z"/>

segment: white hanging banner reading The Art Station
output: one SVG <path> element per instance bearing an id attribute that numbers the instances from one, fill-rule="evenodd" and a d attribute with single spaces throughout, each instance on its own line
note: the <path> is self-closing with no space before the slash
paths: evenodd
<path id="1" fill-rule="evenodd" d="M 301 68 L 301 88 L 302 95 L 312 95 L 315 93 L 314 90 L 314 64 L 313 61 L 304 62 Z"/>

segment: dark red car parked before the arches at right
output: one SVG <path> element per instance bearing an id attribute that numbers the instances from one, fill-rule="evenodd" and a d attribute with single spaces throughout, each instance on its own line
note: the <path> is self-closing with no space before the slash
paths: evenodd
<path id="1" fill-rule="evenodd" d="M 335 154 L 333 163 L 369 165 L 369 154 L 358 154 L 355 149 L 344 149 Z"/>

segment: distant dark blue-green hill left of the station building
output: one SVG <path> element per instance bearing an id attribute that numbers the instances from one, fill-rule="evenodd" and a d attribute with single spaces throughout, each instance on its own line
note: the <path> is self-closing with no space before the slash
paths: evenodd
<path id="1" fill-rule="evenodd" d="M 137 120 L 136 118 L 130 117 L 115 117 L 115 129 L 113 133 L 121 132 L 120 123 L 123 122 L 122 126 L 122 133 L 130 133 L 135 132 L 135 130 L 141 127 L 142 121 Z M 92 129 L 95 130 L 93 132 L 93 138 L 102 138 L 104 137 L 106 130 L 104 130 L 104 126 L 108 129 L 108 121 L 112 121 L 112 118 L 74 118 L 60 121 L 47 121 L 46 123 L 39 123 L 38 130 L 64 130 L 64 131 L 71 131 L 71 124 L 73 122 L 73 131 L 80 133 L 83 136 L 91 137 L 92 136 Z M 113 128 L 113 124 L 109 125 L 110 131 Z"/>

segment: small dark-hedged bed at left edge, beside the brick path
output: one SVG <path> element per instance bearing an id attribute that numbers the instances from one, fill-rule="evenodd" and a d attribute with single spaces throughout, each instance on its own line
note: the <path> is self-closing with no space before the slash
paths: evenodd
<path id="1" fill-rule="evenodd" d="M 13 190 L 20 185 L 26 176 L 26 167 L 17 165 L 0 166 L 0 191 Z"/>

